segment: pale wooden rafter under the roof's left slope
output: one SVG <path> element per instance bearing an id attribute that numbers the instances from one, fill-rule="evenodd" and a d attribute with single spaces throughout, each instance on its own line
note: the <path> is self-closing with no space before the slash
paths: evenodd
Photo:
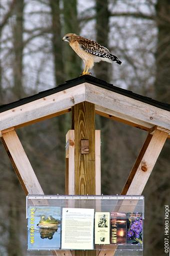
<path id="1" fill-rule="evenodd" d="M 85 100 L 84 83 L 49 96 L 34 100 L 0 113 L 0 131 L 9 127 L 23 126 L 33 120 L 40 120 L 57 112 L 70 109 Z"/>

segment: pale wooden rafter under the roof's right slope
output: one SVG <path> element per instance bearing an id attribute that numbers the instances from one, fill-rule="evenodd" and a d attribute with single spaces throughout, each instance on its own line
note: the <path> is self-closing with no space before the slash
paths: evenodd
<path id="1" fill-rule="evenodd" d="M 160 109 L 136 99 L 85 83 L 85 100 L 95 109 L 112 116 L 151 128 L 158 125 L 170 130 L 170 111 Z"/>

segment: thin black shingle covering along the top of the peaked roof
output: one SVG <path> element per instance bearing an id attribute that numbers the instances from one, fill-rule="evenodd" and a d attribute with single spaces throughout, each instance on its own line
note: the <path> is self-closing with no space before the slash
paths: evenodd
<path id="1" fill-rule="evenodd" d="M 60 84 L 57 87 L 54 87 L 54 88 L 51 88 L 51 89 L 48 89 L 48 90 L 45 90 L 45 91 L 41 91 L 37 94 L 31 95 L 31 96 L 28 96 L 28 97 L 25 97 L 25 98 L 21 98 L 17 101 L 14 101 L 14 102 L 11 102 L 11 103 L 8 103 L 8 104 L 1 105 L 0 106 L 0 112 L 6 111 L 6 110 L 11 109 L 13 107 L 17 107 L 17 106 L 26 104 L 26 103 L 34 101 L 36 99 L 43 98 L 45 96 L 54 94 L 56 92 L 71 88 L 73 86 L 76 86 L 78 84 L 85 83 L 85 82 L 88 82 L 88 83 L 93 84 L 93 85 L 97 85 L 101 88 L 105 88 L 107 90 L 119 93 L 119 94 L 127 96 L 129 98 L 133 98 L 133 99 L 139 100 L 141 102 L 145 102 L 147 104 L 156 106 L 158 108 L 170 111 L 170 104 L 160 102 L 160 101 L 154 100 L 154 99 L 146 97 L 146 96 L 142 96 L 140 94 L 134 93 L 134 92 L 126 90 L 126 89 L 119 88 L 119 87 L 117 87 L 113 84 L 107 83 L 103 80 L 100 80 L 100 79 L 94 77 L 94 76 L 83 75 L 83 76 L 79 76 L 79 77 L 76 77 L 76 78 L 71 79 L 71 80 L 67 80 L 67 81 L 65 81 L 65 83 Z"/>

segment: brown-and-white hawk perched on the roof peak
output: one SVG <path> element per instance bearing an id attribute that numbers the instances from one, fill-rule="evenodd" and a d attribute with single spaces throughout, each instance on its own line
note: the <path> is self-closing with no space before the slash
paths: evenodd
<path id="1" fill-rule="evenodd" d="M 115 61 L 121 65 L 121 61 L 116 56 L 93 40 L 69 33 L 62 38 L 62 41 L 68 42 L 74 52 L 83 60 L 85 67 L 81 75 L 90 74 L 88 69 L 93 67 L 94 62 L 100 62 L 101 60 L 109 63 Z"/>

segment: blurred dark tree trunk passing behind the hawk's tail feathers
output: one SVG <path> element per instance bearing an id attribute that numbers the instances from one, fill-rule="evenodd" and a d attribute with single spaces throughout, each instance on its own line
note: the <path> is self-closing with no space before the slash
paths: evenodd
<path id="1" fill-rule="evenodd" d="M 108 0 L 96 0 L 96 41 L 104 46 L 108 47 L 108 33 L 109 33 L 109 12 L 108 12 Z M 97 78 L 104 81 L 109 81 L 109 64 L 106 62 L 96 63 L 94 66 L 95 74 Z"/>

